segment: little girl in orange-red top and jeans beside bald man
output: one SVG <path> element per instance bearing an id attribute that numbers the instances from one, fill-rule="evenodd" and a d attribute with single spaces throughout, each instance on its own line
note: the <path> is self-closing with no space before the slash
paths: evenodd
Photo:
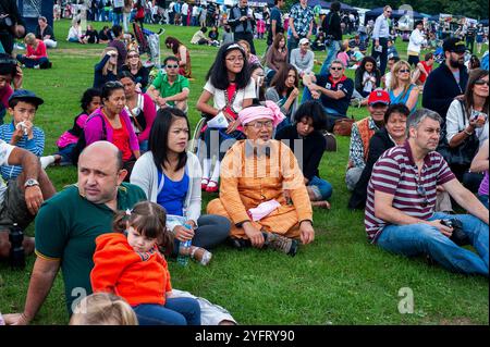
<path id="1" fill-rule="evenodd" d="M 112 293 L 133 308 L 140 325 L 200 325 L 200 308 L 192 298 L 167 298 L 172 290 L 167 261 L 158 244 L 172 249 L 166 211 L 142 201 L 115 214 L 115 233 L 96 238 L 94 293 Z"/>

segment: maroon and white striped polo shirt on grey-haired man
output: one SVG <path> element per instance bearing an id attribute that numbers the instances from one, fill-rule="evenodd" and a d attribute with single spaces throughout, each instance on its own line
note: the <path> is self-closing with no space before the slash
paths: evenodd
<path id="1" fill-rule="evenodd" d="M 448 163 L 436 151 L 429 152 L 418 175 L 408 140 L 387 150 L 376 162 L 367 188 L 364 224 L 368 239 L 376 243 L 389 223 L 375 215 L 375 191 L 393 196 L 393 208 L 420 220 L 432 216 L 436 206 L 436 187 L 455 176 Z M 419 187 L 417 189 L 417 186 Z"/>

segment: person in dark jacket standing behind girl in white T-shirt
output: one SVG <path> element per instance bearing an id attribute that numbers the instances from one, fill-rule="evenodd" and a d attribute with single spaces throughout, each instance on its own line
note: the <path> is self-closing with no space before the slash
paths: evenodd
<path id="1" fill-rule="evenodd" d="M 248 0 L 240 0 L 238 3 L 230 10 L 228 24 L 231 26 L 235 42 L 245 40 L 250 45 L 250 52 L 255 54 L 254 46 L 254 12 L 248 7 Z"/>

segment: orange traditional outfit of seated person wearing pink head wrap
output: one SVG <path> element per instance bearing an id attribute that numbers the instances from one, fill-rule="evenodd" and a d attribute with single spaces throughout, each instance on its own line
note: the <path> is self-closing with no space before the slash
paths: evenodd
<path id="1" fill-rule="evenodd" d="M 258 230 L 298 238 L 299 222 L 313 222 L 313 211 L 296 157 L 278 140 L 268 142 L 269 150 L 254 147 L 241 140 L 230 148 L 221 162 L 220 197 L 208 203 L 207 212 L 231 220 L 232 237 L 247 238 L 241 224 L 248 221 Z M 253 222 L 248 209 L 272 199 L 281 206 Z"/>

